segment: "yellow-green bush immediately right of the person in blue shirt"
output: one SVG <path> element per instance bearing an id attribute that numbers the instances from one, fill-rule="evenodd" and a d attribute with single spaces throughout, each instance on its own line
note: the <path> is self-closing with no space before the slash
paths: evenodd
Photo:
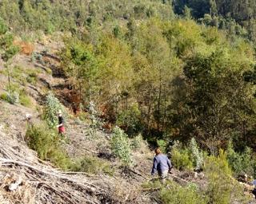
<path id="1" fill-rule="evenodd" d="M 192 170 L 193 163 L 190 159 L 188 149 L 182 149 L 178 143 L 175 143 L 171 151 L 171 161 L 180 171 Z"/>

